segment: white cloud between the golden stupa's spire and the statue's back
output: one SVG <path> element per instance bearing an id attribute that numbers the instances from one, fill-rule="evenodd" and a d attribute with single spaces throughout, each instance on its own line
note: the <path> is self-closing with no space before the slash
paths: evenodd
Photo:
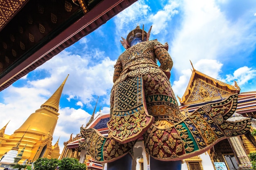
<path id="1" fill-rule="evenodd" d="M 67 74 L 70 74 L 63 93 L 69 95 L 67 98 L 69 101 L 70 99 L 78 99 L 83 104 L 90 105 L 90 102 L 94 100 L 93 95 L 108 95 L 113 85 L 113 65 L 115 64 L 115 61 L 103 55 L 104 52 L 98 50 L 94 52 L 94 56 L 101 55 L 103 60 L 90 65 L 90 56 L 81 57 L 62 51 L 53 57 L 51 62 L 46 62 L 37 68 L 38 71 L 46 69 L 51 76 L 30 83 L 33 86 L 45 86 L 45 88 L 51 88 L 54 91 Z"/>

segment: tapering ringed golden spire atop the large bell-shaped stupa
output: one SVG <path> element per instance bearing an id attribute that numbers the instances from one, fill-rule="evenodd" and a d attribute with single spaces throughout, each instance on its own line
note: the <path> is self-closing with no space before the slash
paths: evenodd
<path id="1" fill-rule="evenodd" d="M 69 74 L 67 75 L 67 77 L 68 76 L 69 76 Z M 50 107 L 54 111 L 58 112 L 58 106 L 59 106 L 60 99 L 61 99 L 61 93 L 62 93 L 63 87 L 66 83 L 67 77 L 65 78 L 65 80 L 63 81 L 61 86 L 55 91 L 55 93 L 44 104 L 41 105 L 41 108 Z"/>

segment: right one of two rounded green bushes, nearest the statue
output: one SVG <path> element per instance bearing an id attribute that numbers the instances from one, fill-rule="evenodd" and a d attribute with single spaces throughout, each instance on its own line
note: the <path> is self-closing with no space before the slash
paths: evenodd
<path id="1" fill-rule="evenodd" d="M 63 158 L 58 166 L 60 170 L 86 170 L 86 165 L 75 158 Z"/>

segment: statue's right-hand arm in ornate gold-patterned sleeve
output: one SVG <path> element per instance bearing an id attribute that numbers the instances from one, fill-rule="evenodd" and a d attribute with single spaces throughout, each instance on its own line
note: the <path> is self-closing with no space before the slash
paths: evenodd
<path id="1" fill-rule="evenodd" d="M 155 56 L 157 57 L 157 60 L 160 62 L 160 68 L 162 68 L 163 71 L 171 71 L 171 68 L 173 67 L 173 60 L 171 59 L 171 56 L 169 55 L 167 49 L 168 44 L 167 42 L 163 45 L 159 42 L 156 42 L 155 46 Z"/>

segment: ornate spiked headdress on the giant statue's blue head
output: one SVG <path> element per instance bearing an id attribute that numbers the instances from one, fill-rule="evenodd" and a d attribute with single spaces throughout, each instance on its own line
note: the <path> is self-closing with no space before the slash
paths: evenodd
<path id="1" fill-rule="evenodd" d="M 142 41 L 148 41 L 149 36 L 150 36 L 151 28 L 152 28 L 152 26 L 150 26 L 150 29 L 148 30 L 148 33 L 147 33 L 146 31 L 144 31 L 144 25 L 143 25 L 142 29 L 140 29 L 140 27 L 138 25 L 134 30 L 132 30 L 132 31 L 130 31 L 130 33 L 128 33 L 126 39 L 121 37 L 123 41 L 120 40 L 120 42 L 124 46 L 125 49 L 128 49 L 130 47 L 130 42 L 135 37 L 141 37 Z"/>

